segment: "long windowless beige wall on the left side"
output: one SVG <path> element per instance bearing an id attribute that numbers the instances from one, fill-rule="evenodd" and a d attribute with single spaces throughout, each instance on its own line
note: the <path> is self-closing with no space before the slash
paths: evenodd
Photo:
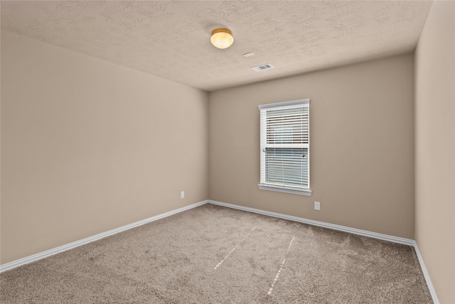
<path id="1" fill-rule="evenodd" d="M 1 89 L 1 264 L 207 199 L 207 93 L 6 31 Z"/>

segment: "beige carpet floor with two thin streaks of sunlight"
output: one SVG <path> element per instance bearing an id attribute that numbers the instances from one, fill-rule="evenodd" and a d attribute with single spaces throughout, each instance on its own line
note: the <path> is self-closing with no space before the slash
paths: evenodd
<path id="1" fill-rule="evenodd" d="M 1 303 L 432 303 L 414 248 L 205 204 L 0 274 Z"/>

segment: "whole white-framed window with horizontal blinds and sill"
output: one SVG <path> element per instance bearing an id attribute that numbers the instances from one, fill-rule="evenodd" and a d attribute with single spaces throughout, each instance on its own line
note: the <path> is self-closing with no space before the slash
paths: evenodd
<path id="1" fill-rule="evenodd" d="M 259 189 L 311 195 L 309 99 L 259 105 Z"/>

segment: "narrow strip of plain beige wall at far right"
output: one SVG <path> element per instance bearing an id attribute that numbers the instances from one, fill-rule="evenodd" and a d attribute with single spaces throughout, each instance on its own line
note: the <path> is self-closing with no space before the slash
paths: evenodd
<path id="1" fill-rule="evenodd" d="M 435 1 L 415 53 L 415 239 L 441 303 L 455 303 L 454 1 Z"/>

